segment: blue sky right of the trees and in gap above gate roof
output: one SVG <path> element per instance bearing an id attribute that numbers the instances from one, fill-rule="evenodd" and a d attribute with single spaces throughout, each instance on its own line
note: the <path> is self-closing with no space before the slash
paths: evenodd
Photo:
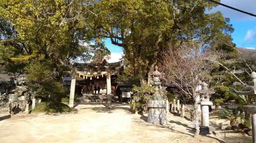
<path id="1" fill-rule="evenodd" d="M 256 0 L 221 0 L 221 3 L 256 14 Z M 225 8 L 221 5 L 211 11 L 221 11 L 224 17 L 230 18 L 230 23 L 233 24 L 235 29 L 234 33 L 232 33 L 232 38 L 237 47 L 256 48 L 256 17 Z M 110 39 L 104 41 L 106 42 L 106 47 L 112 53 L 123 52 L 120 47 L 111 44 Z"/>

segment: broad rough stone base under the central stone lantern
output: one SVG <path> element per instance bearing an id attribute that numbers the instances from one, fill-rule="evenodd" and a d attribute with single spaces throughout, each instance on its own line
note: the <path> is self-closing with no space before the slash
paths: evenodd
<path id="1" fill-rule="evenodd" d="M 147 122 L 151 124 L 167 124 L 165 101 L 149 101 Z"/>

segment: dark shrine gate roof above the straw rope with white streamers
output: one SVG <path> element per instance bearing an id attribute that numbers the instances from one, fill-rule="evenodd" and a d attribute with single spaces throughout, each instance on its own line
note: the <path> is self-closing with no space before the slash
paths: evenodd
<path id="1" fill-rule="evenodd" d="M 106 59 L 103 59 L 101 63 L 74 63 L 74 67 L 92 68 L 92 67 L 122 67 L 123 60 L 109 63 Z"/>

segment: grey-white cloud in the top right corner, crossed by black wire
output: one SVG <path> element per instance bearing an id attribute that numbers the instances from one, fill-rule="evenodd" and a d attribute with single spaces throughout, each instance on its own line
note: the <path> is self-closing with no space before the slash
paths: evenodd
<path id="1" fill-rule="evenodd" d="M 256 8 L 255 8 L 256 0 L 221 0 L 221 3 L 256 15 Z M 245 20 L 245 19 L 256 18 L 250 15 L 247 15 L 245 13 L 241 13 L 233 9 L 223 7 L 222 5 L 219 5 L 218 7 L 213 8 L 210 12 L 217 12 L 217 11 L 221 11 L 224 17 L 228 17 L 234 20 Z"/>

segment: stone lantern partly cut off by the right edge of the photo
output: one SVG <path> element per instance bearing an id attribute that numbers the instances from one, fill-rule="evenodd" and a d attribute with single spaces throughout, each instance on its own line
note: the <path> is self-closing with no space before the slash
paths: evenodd
<path id="1" fill-rule="evenodd" d="M 248 83 L 248 86 L 243 91 L 236 91 L 237 95 L 248 95 L 248 106 L 243 106 L 245 111 L 251 113 L 252 121 L 252 142 L 256 143 L 256 72 L 251 74 L 252 81 Z M 251 103 L 251 99 L 254 99 L 254 104 Z"/>

